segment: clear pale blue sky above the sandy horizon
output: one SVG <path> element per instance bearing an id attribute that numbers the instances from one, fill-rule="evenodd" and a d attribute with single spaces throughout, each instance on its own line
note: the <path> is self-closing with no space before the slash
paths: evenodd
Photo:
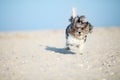
<path id="1" fill-rule="evenodd" d="M 120 0 L 0 0 L 0 31 L 65 29 L 72 7 L 95 27 L 120 26 Z"/>

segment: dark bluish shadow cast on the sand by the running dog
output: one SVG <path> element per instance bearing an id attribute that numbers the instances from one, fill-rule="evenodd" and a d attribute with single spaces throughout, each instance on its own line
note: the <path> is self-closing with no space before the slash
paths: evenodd
<path id="1" fill-rule="evenodd" d="M 47 46 L 45 49 L 48 51 L 54 51 L 55 53 L 60 53 L 60 54 L 75 54 L 74 52 L 71 52 L 70 50 L 66 50 L 65 48 L 56 48 L 56 47 Z"/>

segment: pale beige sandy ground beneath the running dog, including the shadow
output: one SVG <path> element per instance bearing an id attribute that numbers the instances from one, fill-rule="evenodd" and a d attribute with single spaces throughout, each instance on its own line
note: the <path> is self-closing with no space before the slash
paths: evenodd
<path id="1" fill-rule="evenodd" d="M 94 28 L 83 54 L 64 30 L 0 32 L 0 80 L 120 80 L 120 28 Z"/>

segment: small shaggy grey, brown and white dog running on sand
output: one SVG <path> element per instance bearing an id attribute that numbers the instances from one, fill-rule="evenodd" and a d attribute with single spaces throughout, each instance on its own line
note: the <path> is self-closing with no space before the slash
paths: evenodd
<path id="1" fill-rule="evenodd" d="M 87 35 L 92 33 L 93 26 L 86 21 L 86 16 L 77 16 L 75 9 L 72 9 L 70 24 L 66 28 L 66 49 L 83 53 L 83 47 Z"/>

